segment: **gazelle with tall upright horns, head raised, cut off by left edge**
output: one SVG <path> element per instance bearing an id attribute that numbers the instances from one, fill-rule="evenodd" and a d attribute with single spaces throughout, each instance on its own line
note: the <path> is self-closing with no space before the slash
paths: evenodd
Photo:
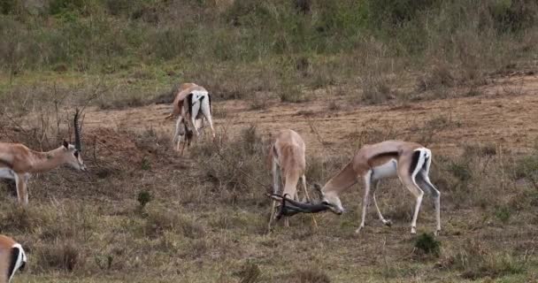
<path id="1" fill-rule="evenodd" d="M 39 152 L 21 143 L 0 142 L 0 178 L 15 180 L 19 203 L 28 203 L 27 185 L 33 173 L 48 172 L 62 164 L 86 171 L 81 157 L 80 132 L 77 110 L 74 114 L 74 145 L 64 141 L 58 149 Z"/>

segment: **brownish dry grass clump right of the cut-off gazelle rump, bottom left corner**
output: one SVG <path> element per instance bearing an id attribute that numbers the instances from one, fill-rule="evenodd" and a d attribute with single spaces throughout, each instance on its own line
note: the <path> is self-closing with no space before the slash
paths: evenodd
<path id="1" fill-rule="evenodd" d="M 83 264 L 81 247 L 73 241 L 57 241 L 35 250 L 39 269 L 73 272 Z"/>

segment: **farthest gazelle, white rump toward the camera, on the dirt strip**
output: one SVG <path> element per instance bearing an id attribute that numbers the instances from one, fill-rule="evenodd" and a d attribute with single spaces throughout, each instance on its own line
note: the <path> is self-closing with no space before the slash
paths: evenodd
<path id="1" fill-rule="evenodd" d="M 175 124 L 172 141 L 176 145 L 176 150 L 180 150 L 181 135 L 186 135 L 185 142 L 190 143 L 187 136 L 188 126 L 185 122 L 186 120 L 190 120 L 191 125 L 194 127 L 194 132 L 196 133 L 196 136 L 198 136 L 200 135 L 198 129 L 202 127 L 203 123 L 201 115 L 203 115 L 211 127 L 213 138 L 215 137 L 211 113 L 211 96 L 205 88 L 191 82 L 181 84 L 178 93 L 173 100 L 173 111 L 165 118 L 178 118 Z M 183 149 L 184 148 L 185 145 L 183 145 Z"/>

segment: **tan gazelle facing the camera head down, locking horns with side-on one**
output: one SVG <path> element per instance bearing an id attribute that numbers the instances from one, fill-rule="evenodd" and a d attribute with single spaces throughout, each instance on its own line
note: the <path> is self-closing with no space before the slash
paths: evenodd
<path id="1" fill-rule="evenodd" d="M 304 195 L 307 201 L 310 202 L 310 195 L 306 188 L 306 178 L 304 171 L 306 170 L 306 160 L 304 158 L 304 141 L 301 135 L 292 130 L 281 130 L 271 146 L 269 157 L 272 164 L 273 174 L 273 194 L 280 192 L 281 180 L 283 180 L 284 188 L 282 195 L 290 195 L 292 198 L 297 197 L 297 182 L 301 178 L 303 182 Z M 269 218 L 268 228 L 271 230 L 271 224 L 274 219 L 275 202 L 271 207 L 271 217 Z M 277 215 L 278 218 L 281 215 Z M 317 226 L 316 219 L 312 216 L 312 223 Z M 289 226 L 288 218 L 285 218 L 285 225 Z"/>

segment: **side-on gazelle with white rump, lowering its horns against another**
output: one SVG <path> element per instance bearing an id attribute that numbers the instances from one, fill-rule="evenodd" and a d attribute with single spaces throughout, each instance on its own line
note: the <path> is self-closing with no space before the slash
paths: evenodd
<path id="1" fill-rule="evenodd" d="M 435 220 L 437 226 L 435 234 L 441 231 L 441 201 L 440 193 L 434 187 L 428 177 L 430 164 L 432 163 L 432 152 L 419 143 L 387 141 L 365 145 L 359 149 L 355 157 L 347 164 L 341 172 L 336 174 L 331 180 L 320 189 L 323 201 L 318 204 L 298 203 L 281 195 L 271 195 L 273 199 L 290 203 L 290 206 L 281 210 L 283 215 L 293 215 L 297 212 L 319 212 L 321 210 L 331 210 L 336 214 L 342 214 L 343 207 L 339 194 L 348 187 L 353 186 L 359 180 L 365 183 L 365 198 L 362 205 L 362 217 L 357 233 L 365 226 L 366 210 L 372 189 L 373 203 L 378 216 L 384 225 L 390 226 L 391 222 L 383 218 L 379 206 L 375 200 L 375 191 L 379 180 L 385 178 L 398 177 L 412 195 L 416 198 L 415 210 L 411 221 L 411 233 L 417 233 L 417 217 L 419 216 L 420 203 L 426 191 L 434 197 Z M 373 187 L 372 187 L 373 184 Z"/>

